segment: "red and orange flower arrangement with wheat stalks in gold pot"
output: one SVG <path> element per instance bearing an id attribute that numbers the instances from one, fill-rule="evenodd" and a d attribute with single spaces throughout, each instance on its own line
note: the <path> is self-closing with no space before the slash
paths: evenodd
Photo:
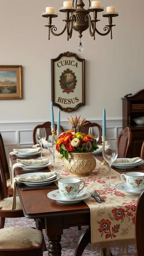
<path id="1" fill-rule="evenodd" d="M 64 159 L 64 166 L 74 176 L 88 175 L 96 167 L 96 159 L 92 152 L 98 146 L 93 136 L 79 132 L 81 126 L 87 124 L 83 118 L 79 120 L 75 114 L 75 119 L 68 119 L 72 125 L 72 130 L 61 133 L 56 142 L 56 150 Z"/>

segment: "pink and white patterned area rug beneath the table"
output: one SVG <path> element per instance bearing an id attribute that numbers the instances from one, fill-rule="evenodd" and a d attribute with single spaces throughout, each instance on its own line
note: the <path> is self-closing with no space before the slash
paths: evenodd
<path id="1" fill-rule="evenodd" d="M 27 227 L 35 227 L 35 221 L 33 219 L 23 218 L 6 218 L 5 220 L 5 228 L 12 226 L 27 226 Z M 61 256 L 74 256 L 75 248 L 77 241 L 81 234 L 87 229 L 87 226 L 81 227 L 81 230 L 78 230 L 78 227 L 71 227 L 70 229 L 65 229 L 61 238 Z M 43 230 L 46 246 L 48 247 L 48 240 L 45 234 L 45 230 Z M 111 248 L 111 253 L 113 256 L 120 256 L 119 248 L 113 247 Z M 47 256 L 48 252 L 44 251 L 43 256 Z M 82 256 L 99 256 L 99 250 L 91 251 L 91 244 L 89 243 L 85 248 Z M 128 254 L 130 256 L 136 256 L 136 248 L 135 246 L 129 246 Z"/>

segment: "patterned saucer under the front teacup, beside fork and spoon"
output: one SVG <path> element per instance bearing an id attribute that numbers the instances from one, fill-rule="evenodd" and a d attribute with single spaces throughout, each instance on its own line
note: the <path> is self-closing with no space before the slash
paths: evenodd
<path id="1" fill-rule="evenodd" d="M 89 198 L 90 196 L 91 196 L 90 192 L 86 191 L 86 190 L 81 190 L 79 192 L 79 194 L 74 199 L 63 198 L 60 195 L 59 190 L 53 190 L 47 194 L 47 197 L 49 197 L 50 199 L 56 200 L 63 204 L 74 204 L 74 203 L 80 202 L 81 200 L 85 200 L 85 199 Z"/>

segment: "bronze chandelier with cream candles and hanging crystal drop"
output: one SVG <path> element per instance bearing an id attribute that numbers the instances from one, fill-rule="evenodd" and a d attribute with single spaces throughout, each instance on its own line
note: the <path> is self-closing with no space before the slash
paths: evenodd
<path id="1" fill-rule="evenodd" d="M 50 39 L 50 33 L 54 36 L 62 35 L 65 30 L 67 31 L 67 40 L 72 37 L 73 29 L 79 33 L 80 45 L 78 47 L 79 51 L 83 50 L 83 46 L 81 45 L 81 37 L 83 36 L 83 31 L 89 28 L 89 34 L 95 40 L 95 32 L 101 36 L 106 36 L 110 33 L 112 39 L 112 27 L 116 25 L 112 25 L 112 17 L 118 16 L 118 12 L 115 12 L 114 6 L 107 7 L 106 12 L 102 13 L 103 17 L 108 17 L 109 25 L 105 25 L 104 31 L 105 33 L 101 33 L 96 28 L 96 23 L 100 21 L 97 19 L 97 13 L 104 11 L 104 7 L 100 6 L 100 1 L 92 1 L 87 0 L 89 2 L 89 7 L 84 9 L 84 2 L 82 0 L 73 0 L 73 2 L 66 1 L 64 2 L 64 6 L 59 8 L 60 12 L 66 13 L 66 18 L 63 20 L 65 22 L 65 27 L 60 33 L 55 33 L 57 31 L 57 27 L 52 25 L 52 18 L 58 17 L 58 14 L 54 12 L 54 7 L 46 7 L 46 12 L 42 13 L 43 17 L 48 18 L 48 40 Z M 74 7 L 74 2 L 75 7 Z M 93 19 L 89 15 L 90 12 L 93 12 Z M 71 13 L 71 16 L 70 16 Z"/>

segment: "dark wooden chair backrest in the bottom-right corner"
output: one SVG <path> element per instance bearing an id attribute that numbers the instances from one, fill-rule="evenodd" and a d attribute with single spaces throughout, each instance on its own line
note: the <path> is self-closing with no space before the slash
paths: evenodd
<path id="1" fill-rule="evenodd" d="M 142 190 L 136 207 L 136 214 L 135 214 L 135 239 L 136 239 L 136 251 L 137 256 L 142 256 L 143 253 L 143 243 L 144 243 L 144 236 L 143 236 L 143 227 L 144 227 L 144 190 Z"/>

